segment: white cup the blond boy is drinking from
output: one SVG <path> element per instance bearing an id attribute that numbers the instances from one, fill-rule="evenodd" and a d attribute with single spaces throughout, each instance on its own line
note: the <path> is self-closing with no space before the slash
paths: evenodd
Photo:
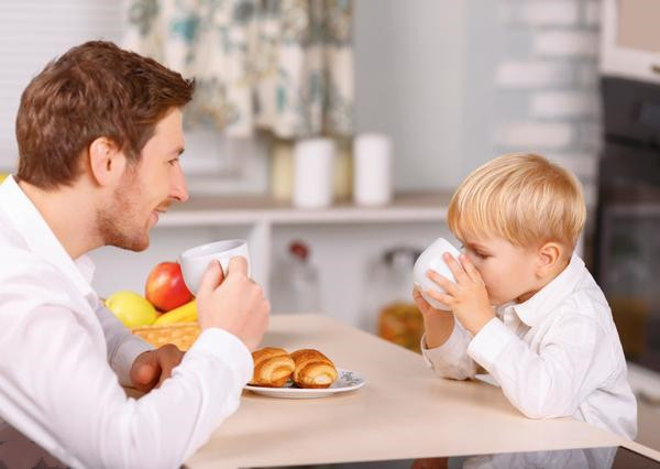
<path id="1" fill-rule="evenodd" d="M 437 309 L 449 310 L 451 309 L 449 306 L 431 298 L 427 294 L 427 291 L 429 290 L 436 290 L 440 293 L 444 293 L 444 290 L 440 285 L 427 276 L 427 272 L 430 270 L 438 272 L 440 275 L 449 279 L 452 282 L 455 282 L 451 270 L 442 260 L 442 254 L 446 252 L 449 252 L 457 260 L 461 254 L 459 250 L 451 244 L 451 242 L 444 238 L 438 238 L 431 243 L 431 246 L 424 250 L 419 258 L 417 258 L 415 266 L 413 268 L 413 281 L 415 282 L 415 286 L 420 290 L 422 298 L 426 299 L 431 306 Z"/>

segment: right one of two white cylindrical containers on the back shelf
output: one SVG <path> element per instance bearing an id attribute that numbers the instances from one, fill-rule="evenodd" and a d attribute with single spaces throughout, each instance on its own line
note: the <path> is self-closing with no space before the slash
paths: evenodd
<path id="1" fill-rule="evenodd" d="M 387 205 L 392 200 L 392 139 L 364 133 L 353 142 L 353 200 L 356 205 Z"/>

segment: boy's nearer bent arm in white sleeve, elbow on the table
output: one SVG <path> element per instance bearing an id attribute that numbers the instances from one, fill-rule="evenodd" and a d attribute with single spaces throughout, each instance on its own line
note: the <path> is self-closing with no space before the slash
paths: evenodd
<path id="1" fill-rule="evenodd" d="M 560 319 L 536 353 L 493 318 L 474 336 L 468 355 L 497 380 L 526 416 L 551 418 L 573 415 L 593 391 L 585 379 L 603 341 L 597 323 L 575 314 Z"/>

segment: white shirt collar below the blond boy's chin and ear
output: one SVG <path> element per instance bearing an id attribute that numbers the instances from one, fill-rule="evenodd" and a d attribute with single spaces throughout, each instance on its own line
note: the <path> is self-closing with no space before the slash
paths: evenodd
<path id="1" fill-rule="evenodd" d="M 584 261 L 576 254 L 571 255 L 569 265 L 550 283 L 526 302 L 513 305 L 520 320 L 529 327 L 539 325 L 556 310 L 557 305 L 573 292 L 584 270 Z"/>

